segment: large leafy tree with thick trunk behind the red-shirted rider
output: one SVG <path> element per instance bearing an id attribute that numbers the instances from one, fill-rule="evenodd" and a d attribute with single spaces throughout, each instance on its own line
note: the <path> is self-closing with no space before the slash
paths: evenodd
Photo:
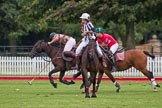
<path id="1" fill-rule="evenodd" d="M 161 19 L 161 5 L 161 0 L 72 0 L 65 2 L 57 9 L 57 13 L 51 16 L 55 16 L 54 20 L 59 19 L 64 22 L 74 18 L 73 22 L 75 22 L 81 13 L 88 12 L 92 15 L 95 25 L 102 23 L 104 28 L 108 28 L 111 21 L 118 25 L 124 24 L 125 29 L 121 30 L 125 31 L 118 31 L 119 36 L 121 36 L 124 46 L 131 49 L 135 46 L 136 24 Z M 125 34 L 121 34 L 121 32 Z"/>

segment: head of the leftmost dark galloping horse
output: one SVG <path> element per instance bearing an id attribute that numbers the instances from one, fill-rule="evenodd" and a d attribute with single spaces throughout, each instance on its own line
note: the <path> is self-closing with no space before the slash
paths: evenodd
<path id="1" fill-rule="evenodd" d="M 34 57 L 37 56 L 39 53 L 41 53 L 41 52 L 44 51 L 44 46 L 46 46 L 46 42 L 45 42 L 44 40 L 39 40 L 39 41 L 37 41 L 37 42 L 34 44 L 34 46 L 33 46 L 32 50 L 31 50 L 31 52 L 29 53 L 29 56 L 30 56 L 31 58 L 34 58 Z"/>

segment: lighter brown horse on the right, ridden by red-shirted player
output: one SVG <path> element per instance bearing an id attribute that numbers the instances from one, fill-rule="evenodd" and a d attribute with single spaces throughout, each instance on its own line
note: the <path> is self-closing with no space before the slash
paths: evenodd
<path id="1" fill-rule="evenodd" d="M 160 85 L 156 83 L 154 76 L 153 76 L 153 72 L 147 70 L 147 68 L 146 68 L 147 56 L 151 57 L 152 59 L 155 58 L 154 55 L 149 54 L 147 51 L 141 51 L 141 50 L 137 50 L 137 49 L 125 51 L 125 60 L 117 62 L 117 71 L 124 71 L 131 67 L 134 67 L 137 70 L 141 71 L 151 81 L 154 91 L 157 91 L 157 87 L 160 87 Z M 109 74 L 111 76 L 112 75 L 111 74 L 111 70 L 112 70 L 111 62 L 107 61 L 107 65 L 108 65 L 108 67 L 104 68 L 104 70 L 105 70 L 104 72 L 107 75 Z M 97 82 L 97 84 L 98 84 L 97 89 L 101 82 L 102 76 L 103 76 L 103 72 L 100 72 L 99 79 Z M 113 77 L 109 77 L 109 78 L 111 80 L 115 80 Z"/>

